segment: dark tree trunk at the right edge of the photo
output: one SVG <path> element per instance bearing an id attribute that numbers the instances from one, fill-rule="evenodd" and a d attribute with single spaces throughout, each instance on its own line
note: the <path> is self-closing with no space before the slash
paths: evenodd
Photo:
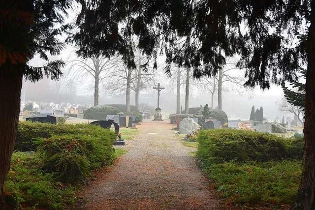
<path id="1" fill-rule="evenodd" d="M 308 69 L 306 76 L 304 160 L 302 179 L 295 210 L 315 209 L 315 0 L 312 0 L 308 34 Z"/>

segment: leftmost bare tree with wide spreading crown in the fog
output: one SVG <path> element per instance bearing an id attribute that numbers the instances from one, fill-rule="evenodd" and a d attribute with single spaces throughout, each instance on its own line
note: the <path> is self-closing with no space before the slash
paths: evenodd
<path id="1" fill-rule="evenodd" d="M 86 80 L 94 79 L 94 106 L 98 105 L 99 83 L 108 77 L 108 72 L 121 62 L 120 58 L 108 59 L 103 56 L 94 56 L 88 59 L 72 60 L 70 62 L 69 74 L 72 79 Z"/>

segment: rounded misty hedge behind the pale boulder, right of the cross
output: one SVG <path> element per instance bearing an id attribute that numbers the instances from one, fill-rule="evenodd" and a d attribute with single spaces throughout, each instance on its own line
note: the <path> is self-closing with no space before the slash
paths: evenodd
<path id="1" fill-rule="evenodd" d="M 198 124 L 202 125 L 205 122 L 205 119 L 203 118 L 203 115 L 201 114 L 202 111 L 203 111 L 203 107 L 191 107 L 189 108 L 189 114 L 170 114 L 169 117 L 172 124 L 175 123 L 176 116 L 180 116 L 181 119 L 198 118 L 199 119 Z M 185 110 L 183 111 L 183 113 L 185 113 Z M 189 116 L 189 117 L 186 117 L 186 116 Z M 209 117 L 216 120 L 220 120 L 221 125 L 223 125 L 224 123 L 227 123 L 227 115 L 222 110 L 212 109 L 211 107 L 209 107 Z"/>

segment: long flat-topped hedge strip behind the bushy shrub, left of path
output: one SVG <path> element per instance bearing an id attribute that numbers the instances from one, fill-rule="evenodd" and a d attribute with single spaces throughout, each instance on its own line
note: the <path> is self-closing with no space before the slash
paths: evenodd
<path id="1" fill-rule="evenodd" d="M 15 150 L 29 151 L 36 150 L 36 140 L 41 138 L 50 138 L 53 135 L 78 134 L 91 137 L 108 138 L 104 141 L 112 141 L 115 134 L 109 129 L 101 128 L 97 125 L 86 123 L 80 124 L 50 124 L 31 121 L 20 121 L 17 137 L 15 141 Z"/>

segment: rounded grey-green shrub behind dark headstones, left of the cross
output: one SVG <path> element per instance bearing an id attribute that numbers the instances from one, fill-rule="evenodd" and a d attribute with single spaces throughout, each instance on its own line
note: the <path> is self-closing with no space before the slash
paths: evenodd
<path id="1" fill-rule="evenodd" d="M 116 115 L 119 112 L 121 112 L 121 110 L 113 106 L 93 106 L 84 112 L 84 118 L 92 120 L 106 120 L 107 115 Z"/>

